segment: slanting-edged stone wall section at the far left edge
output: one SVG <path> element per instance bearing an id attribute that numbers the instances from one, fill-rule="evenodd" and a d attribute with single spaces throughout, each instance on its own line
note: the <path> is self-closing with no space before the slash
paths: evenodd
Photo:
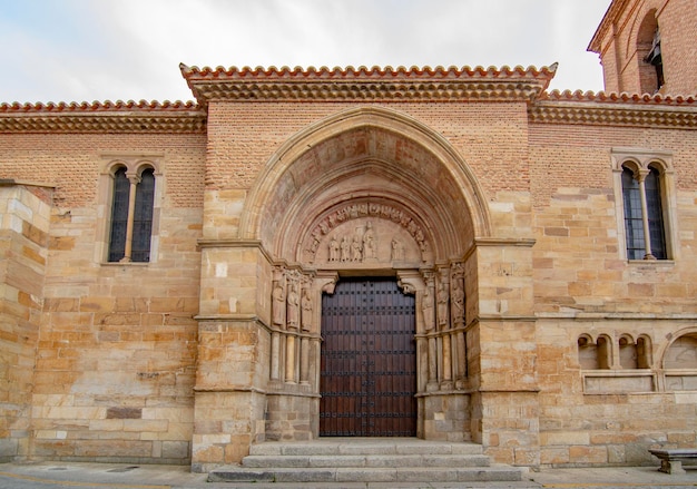
<path id="1" fill-rule="evenodd" d="M 0 180 L 0 460 L 27 459 L 52 188 Z"/>

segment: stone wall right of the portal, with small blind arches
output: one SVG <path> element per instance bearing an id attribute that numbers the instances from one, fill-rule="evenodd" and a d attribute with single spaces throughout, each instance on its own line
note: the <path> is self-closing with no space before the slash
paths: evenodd
<path id="1" fill-rule="evenodd" d="M 690 446 L 694 399 L 670 387 L 664 352 L 697 326 L 697 140 L 658 128 L 533 125 L 530 134 L 540 463 L 640 464 L 649 447 Z M 613 147 L 673 155 L 675 260 L 620 257 Z M 589 363 L 588 343 L 607 360 Z"/>

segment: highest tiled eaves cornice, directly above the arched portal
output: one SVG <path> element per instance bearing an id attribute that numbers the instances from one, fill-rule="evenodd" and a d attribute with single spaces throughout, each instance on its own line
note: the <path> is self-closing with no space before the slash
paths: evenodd
<path id="1" fill-rule="evenodd" d="M 230 101 L 534 100 L 556 65 L 537 68 L 197 68 L 180 65 L 199 105 Z"/>

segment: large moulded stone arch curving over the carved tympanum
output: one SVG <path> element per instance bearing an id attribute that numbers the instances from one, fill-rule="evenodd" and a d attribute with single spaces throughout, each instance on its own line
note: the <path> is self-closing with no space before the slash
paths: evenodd
<path id="1" fill-rule="evenodd" d="M 239 237 L 259 239 L 277 258 L 303 261 L 312 234 L 350 212 L 348 202 L 369 214 L 393 213 L 395 223 L 408 216 L 408 233 L 432 244 L 435 260 L 492 233 L 483 190 L 445 138 L 404 114 L 363 107 L 281 146 L 249 192 Z"/>

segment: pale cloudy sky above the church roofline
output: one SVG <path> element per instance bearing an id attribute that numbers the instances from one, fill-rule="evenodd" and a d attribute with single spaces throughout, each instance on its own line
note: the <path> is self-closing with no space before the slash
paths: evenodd
<path id="1" fill-rule="evenodd" d="M 0 102 L 192 100 L 198 67 L 523 67 L 602 90 L 610 0 L 0 0 Z"/>

